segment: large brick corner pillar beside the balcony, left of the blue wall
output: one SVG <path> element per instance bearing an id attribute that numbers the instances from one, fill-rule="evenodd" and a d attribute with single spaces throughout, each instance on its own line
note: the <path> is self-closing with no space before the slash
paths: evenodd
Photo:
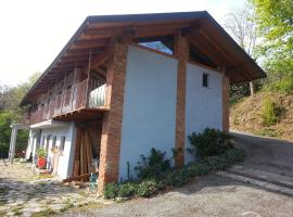
<path id="1" fill-rule="evenodd" d="M 127 43 L 116 40 L 111 53 L 106 72 L 106 104 L 110 111 L 103 115 L 99 193 L 102 193 L 105 183 L 118 181 Z"/>

